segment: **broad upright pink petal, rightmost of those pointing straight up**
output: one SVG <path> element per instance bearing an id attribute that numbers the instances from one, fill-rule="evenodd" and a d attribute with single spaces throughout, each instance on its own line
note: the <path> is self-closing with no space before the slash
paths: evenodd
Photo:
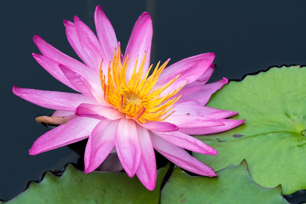
<path id="1" fill-rule="evenodd" d="M 141 61 L 144 57 L 144 52 L 146 51 L 146 60 L 144 63 L 144 73 L 147 72 L 150 66 L 150 53 L 151 53 L 151 43 L 152 43 L 153 27 L 152 20 L 149 13 L 143 13 L 136 21 L 134 28 L 129 39 L 129 43 L 126 47 L 124 58 L 129 53 L 129 65 L 126 72 L 126 79 L 129 80 L 132 76 L 134 65 L 136 62 L 137 55 L 138 63 L 137 70 L 140 67 Z"/>

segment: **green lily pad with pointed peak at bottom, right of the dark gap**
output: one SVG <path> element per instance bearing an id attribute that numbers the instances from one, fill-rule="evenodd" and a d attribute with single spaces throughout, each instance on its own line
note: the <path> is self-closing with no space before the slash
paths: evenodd
<path id="1" fill-rule="evenodd" d="M 161 203 L 288 203 L 281 185 L 265 188 L 257 185 L 243 160 L 217 172 L 217 177 L 190 177 L 175 168 L 162 189 Z"/>

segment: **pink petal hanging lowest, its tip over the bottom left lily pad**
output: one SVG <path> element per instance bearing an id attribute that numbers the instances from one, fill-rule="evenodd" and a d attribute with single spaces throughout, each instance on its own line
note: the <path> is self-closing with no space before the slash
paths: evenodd
<path id="1" fill-rule="evenodd" d="M 136 128 L 141 149 L 141 158 L 136 175 L 141 183 L 152 191 L 155 188 L 157 175 L 154 149 L 147 129 L 140 125 L 136 125 Z"/>

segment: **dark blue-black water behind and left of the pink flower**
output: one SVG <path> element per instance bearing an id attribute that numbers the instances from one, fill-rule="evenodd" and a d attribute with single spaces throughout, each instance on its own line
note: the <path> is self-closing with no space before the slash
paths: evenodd
<path id="1" fill-rule="evenodd" d="M 78 158 L 68 147 L 28 155 L 35 139 L 48 131 L 34 117 L 53 111 L 24 101 L 11 91 L 16 85 L 71 92 L 31 56 L 32 52 L 39 53 L 32 38 L 40 35 L 65 54 L 78 58 L 65 36 L 63 19 L 72 21 L 77 15 L 95 30 L 95 6 L 101 5 L 124 52 L 134 23 L 148 11 L 153 20 L 151 63 L 156 65 L 171 57 L 172 64 L 214 52 L 217 67 L 211 81 L 241 79 L 273 65 L 306 64 L 304 0 L 48 2 L 0 0 L 0 198 L 4 200 L 22 192 L 29 180 L 41 179 L 44 171 L 62 170 Z"/>

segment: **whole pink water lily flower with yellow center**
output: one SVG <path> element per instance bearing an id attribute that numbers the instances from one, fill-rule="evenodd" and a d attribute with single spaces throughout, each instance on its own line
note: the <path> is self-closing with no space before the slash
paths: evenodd
<path id="1" fill-rule="evenodd" d="M 228 83 L 223 78 L 206 84 L 214 69 L 213 53 L 189 57 L 166 68 L 168 59 L 153 68 L 149 65 L 153 33 L 149 13 L 136 21 L 124 55 L 100 6 L 95 9 L 97 36 L 77 16 L 74 23 L 64 20 L 64 25 L 70 45 L 84 63 L 37 35 L 33 41 L 42 55 L 32 55 L 47 72 L 80 94 L 13 87 L 15 95 L 56 110 L 50 117 L 37 118 L 59 126 L 40 136 L 29 154 L 88 138 L 85 173 L 117 152 L 128 176 L 136 174 L 153 190 L 155 149 L 188 171 L 216 176 L 213 169 L 184 150 L 215 155 L 214 148 L 190 135 L 222 132 L 243 123 L 226 119 L 236 112 L 205 106 L 211 94 Z"/>

